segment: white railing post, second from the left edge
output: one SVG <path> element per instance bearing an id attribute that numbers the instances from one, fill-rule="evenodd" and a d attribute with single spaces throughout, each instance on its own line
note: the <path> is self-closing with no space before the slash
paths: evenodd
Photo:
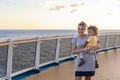
<path id="1" fill-rule="evenodd" d="M 35 69 L 39 69 L 39 63 L 40 63 L 40 41 L 39 38 L 37 38 L 37 45 L 36 45 L 36 57 L 35 57 Z"/>

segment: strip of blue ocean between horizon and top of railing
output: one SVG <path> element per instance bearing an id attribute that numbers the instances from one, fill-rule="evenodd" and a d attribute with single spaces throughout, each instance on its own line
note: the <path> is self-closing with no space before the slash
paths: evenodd
<path id="1" fill-rule="evenodd" d="M 99 30 L 99 33 L 120 32 L 120 30 Z M 30 37 L 77 34 L 76 30 L 0 30 L 0 38 Z"/>

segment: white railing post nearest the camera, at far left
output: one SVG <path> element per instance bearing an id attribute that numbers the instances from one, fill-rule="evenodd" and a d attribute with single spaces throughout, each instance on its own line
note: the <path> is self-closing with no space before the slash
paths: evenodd
<path id="1" fill-rule="evenodd" d="M 12 76 L 12 58 L 13 58 L 13 44 L 12 40 L 9 40 L 8 45 L 8 57 L 7 57 L 7 80 L 11 80 Z"/>

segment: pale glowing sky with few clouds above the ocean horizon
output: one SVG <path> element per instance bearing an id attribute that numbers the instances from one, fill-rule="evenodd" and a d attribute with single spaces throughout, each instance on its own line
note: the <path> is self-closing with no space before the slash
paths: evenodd
<path id="1" fill-rule="evenodd" d="M 0 0 L 0 29 L 120 30 L 120 0 Z"/>

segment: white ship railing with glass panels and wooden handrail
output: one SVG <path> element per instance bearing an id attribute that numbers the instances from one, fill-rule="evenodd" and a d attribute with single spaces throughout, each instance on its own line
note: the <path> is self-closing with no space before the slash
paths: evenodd
<path id="1" fill-rule="evenodd" d="M 53 62 L 73 57 L 74 35 L 28 37 L 0 40 L 0 80 Z M 120 46 L 120 33 L 99 34 L 101 49 Z"/>

